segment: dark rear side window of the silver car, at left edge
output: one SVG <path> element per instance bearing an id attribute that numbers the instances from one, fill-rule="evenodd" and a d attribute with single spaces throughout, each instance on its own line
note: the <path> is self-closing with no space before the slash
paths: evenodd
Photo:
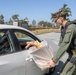
<path id="1" fill-rule="evenodd" d="M 4 32 L 0 32 L 0 55 L 11 53 L 10 42 L 8 36 Z"/>

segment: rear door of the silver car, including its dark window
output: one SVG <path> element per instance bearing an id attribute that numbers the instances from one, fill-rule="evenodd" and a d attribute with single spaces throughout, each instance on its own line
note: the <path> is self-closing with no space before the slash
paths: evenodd
<path id="1" fill-rule="evenodd" d="M 22 52 L 15 51 L 13 41 L 16 39 L 12 40 L 14 36 L 9 33 L 10 31 L 0 30 L 0 75 L 25 75 L 26 63 Z"/>

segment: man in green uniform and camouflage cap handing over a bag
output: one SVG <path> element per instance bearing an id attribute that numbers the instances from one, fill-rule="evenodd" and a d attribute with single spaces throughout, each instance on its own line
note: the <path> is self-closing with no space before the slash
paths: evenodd
<path id="1" fill-rule="evenodd" d="M 61 37 L 58 52 L 49 62 L 49 66 L 55 67 L 60 57 L 67 51 L 69 58 L 60 75 L 76 75 L 76 25 L 75 21 L 70 22 L 66 17 L 67 13 L 63 9 L 52 14 L 53 21 L 61 26 Z"/>

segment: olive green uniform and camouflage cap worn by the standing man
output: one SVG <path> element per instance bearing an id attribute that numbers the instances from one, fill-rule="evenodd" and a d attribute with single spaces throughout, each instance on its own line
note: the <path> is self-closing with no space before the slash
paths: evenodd
<path id="1" fill-rule="evenodd" d="M 66 16 L 66 14 L 63 14 L 61 12 L 62 12 L 62 10 L 59 10 L 59 12 L 52 14 L 52 18 L 54 18 L 54 20 L 56 20 L 60 16 Z M 67 23 L 66 23 L 65 27 L 67 26 Z M 64 33 L 63 37 L 61 36 L 61 38 L 60 38 L 60 44 L 59 44 L 60 47 L 58 49 L 58 52 L 56 53 L 56 55 L 53 57 L 52 60 L 55 63 L 57 63 L 58 60 L 60 59 L 60 57 L 66 51 L 69 54 L 70 53 L 73 54 L 70 61 L 67 62 L 67 64 L 65 65 L 65 67 L 60 75 L 76 75 L 75 74 L 75 71 L 76 71 L 76 51 L 75 51 L 76 50 L 76 44 L 75 44 L 76 43 L 76 41 L 75 41 L 76 40 L 76 25 L 75 24 L 68 25 L 66 30 L 63 31 L 63 33 Z M 73 53 L 72 50 L 74 50 L 75 53 Z"/>

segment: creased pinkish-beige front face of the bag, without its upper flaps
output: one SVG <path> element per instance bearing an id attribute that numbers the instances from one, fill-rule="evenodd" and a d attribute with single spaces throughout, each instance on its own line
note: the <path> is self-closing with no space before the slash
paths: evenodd
<path id="1" fill-rule="evenodd" d="M 51 60 L 51 57 L 42 48 L 35 52 L 32 52 L 31 54 L 35 63 L 41 70 L 44 70 L 49 67 L 48 62 Z"/>

